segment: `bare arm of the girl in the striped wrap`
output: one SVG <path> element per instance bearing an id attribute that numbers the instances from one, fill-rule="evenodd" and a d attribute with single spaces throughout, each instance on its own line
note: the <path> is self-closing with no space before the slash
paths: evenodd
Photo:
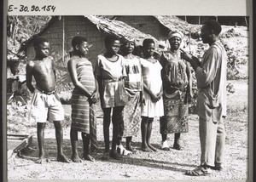
<path id="1" fill-rule="evenodd" d="M 81 91 L 83 91 L 84 95 L 90 99 L 89 91 L 86 88 L 84 88 L 84 85 L 81 82 L 79 82 L 76 65 L 77 62 L 75 60 L 69 60 L 67 62 L 67 70 L 69 71 L 73 85 L 76 88 L 79 88 Z"/>

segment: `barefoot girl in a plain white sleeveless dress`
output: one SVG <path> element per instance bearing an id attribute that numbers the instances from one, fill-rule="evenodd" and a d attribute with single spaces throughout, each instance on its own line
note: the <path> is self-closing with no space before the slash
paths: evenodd
<path id="1" fill-rule="evenodd" d="M 153 39 L 145 39 L 143 41 L 143 82 L 145 105 L 142 105 L 142 150 L 156 151 L 150 144 L 152 131 L 152 122 L 154 117 L 162 117 L 164 115 L 162 100 L 162 80 L 160 62 L 154 58 L 155 43 Z"/>

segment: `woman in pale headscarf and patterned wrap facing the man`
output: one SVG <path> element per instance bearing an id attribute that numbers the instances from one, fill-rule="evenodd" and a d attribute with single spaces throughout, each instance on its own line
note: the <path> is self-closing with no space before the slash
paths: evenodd
<path id="1" fill-rule="evenodd" d="M 180 134 L 189 131 L 188 99 L 192 97 L 192 82 L 189 63 L 181 58 L 180 45 L 183 34 L 171 31 L 168 40 L 170 51 L 163 53 L 160 58 L 163 80 L 164 117 L 160 117 L 161 149 L 169 151 L 167 134 L 174 133 L 173 148 L 182 150 Z M 189 94 L 189 97 L 187 97 Z"/>

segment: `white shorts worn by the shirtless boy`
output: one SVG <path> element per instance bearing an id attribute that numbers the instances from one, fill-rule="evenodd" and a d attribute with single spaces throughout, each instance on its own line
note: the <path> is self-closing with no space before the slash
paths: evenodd
<path id="1" fill-rule="evenodd" d="M 43 94 L 35 88 L 31 101 L 30 119 L 35 122 L 64 120 L 64 109 L 58 95 Z"/>

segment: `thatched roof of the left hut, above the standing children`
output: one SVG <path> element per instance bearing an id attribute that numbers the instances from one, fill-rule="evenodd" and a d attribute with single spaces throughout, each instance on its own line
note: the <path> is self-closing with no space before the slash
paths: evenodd
<path id="1" fill-rule="evenodd" d="M 157 45 L 160 45 L 160 47 L 164 47 L 156 38 L 152 37 L 149 34 L 145 34 L 142 31 L 138 31 L 137 29 L 133 28 L 132 26 L 129 26 L 125 24 L 122 21 L 119 20 L 109 20 L 106 17 L 103 16 L 95 16 L 95 15 L 86 15 L 84 16 L 86 20 L 90 20 L 92 24 L 96 26 L 96 28 L 99 31 L 102 31 L 103 33 L 107 34 L 114 34 L 118 37 L 128 37 L 128 38 L 134 38 L 136 40 L 137 45 L 142 45 L 143 40 L 145 38 L 152 38 L 154 39 L 154 42 Z M 46 31 L 50 26 L 52 26 L 56 20 L 60 20 L 61 16 L 53 16 L 51 20 L 44 26 L 42 31 L 39 31 L 38 34 L 33 35 L 28 40 L 26 40 L 24 43 L 21 44 L 19 52 L 24 52 L 26 50 L 26 47 L 32 43 L 33 39 L 35 37 L 41 36 L 44 31 Z M 157 46 L 157 49 L 158 48 Z"/>

